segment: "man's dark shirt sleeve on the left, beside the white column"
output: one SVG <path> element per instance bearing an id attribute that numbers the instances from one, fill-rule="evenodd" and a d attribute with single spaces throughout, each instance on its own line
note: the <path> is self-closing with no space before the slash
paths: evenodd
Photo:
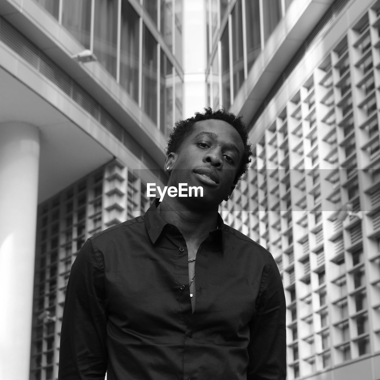
<path id="1" fill-rule="evenodd" d="M 59 380 L 100 380 L 107 370 L 103 256 L 87 240 L 67 284 L 59 355 Z"/>

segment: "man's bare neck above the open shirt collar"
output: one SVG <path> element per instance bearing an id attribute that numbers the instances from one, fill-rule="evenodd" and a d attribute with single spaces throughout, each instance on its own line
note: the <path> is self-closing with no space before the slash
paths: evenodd
<path id="1" fill-rule="evenodd" d="M 175 225 L 187 243 L 198 243 L 206 239 L 209 232 L 217 228 L 218 209 L 195 209 L 178 202 L 177 198 L 164 198 L 157 211 L 166 222 Z"/>

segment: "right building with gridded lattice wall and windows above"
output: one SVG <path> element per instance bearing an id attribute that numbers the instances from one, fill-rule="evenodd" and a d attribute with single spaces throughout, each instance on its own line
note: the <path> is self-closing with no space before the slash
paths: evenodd
<path id="1" fill-rule="evenodd" d="M 207 2 L 207 101 L 250 169 L 221 211 L 274 256 L 288 379 L 380 379 L 380 2 Z M 232 200 L 232 202 L 231 202 Z"/>

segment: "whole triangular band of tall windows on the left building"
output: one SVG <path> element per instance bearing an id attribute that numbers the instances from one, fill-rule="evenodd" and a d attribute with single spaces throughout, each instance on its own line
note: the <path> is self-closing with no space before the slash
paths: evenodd
<path id="1" fill-rule="evenodd" d="M 94 52 L 114 80 L 168 135 L 175 117 L 183 113 L 183 0 L 37 2 L 61 20 L 84 48 Z M 152 19 L 153 27 L 141 14 Z M 165 49 L 158 43 L 160 34 Z"/>

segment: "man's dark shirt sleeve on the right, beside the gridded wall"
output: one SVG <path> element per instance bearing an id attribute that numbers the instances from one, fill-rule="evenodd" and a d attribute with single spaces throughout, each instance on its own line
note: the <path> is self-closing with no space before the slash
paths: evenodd
<path id="1" fill-rule="evenodd" d="M 286 303 L 280 272 L 273 257 L 264 266 L 250 322 L 247 380 L 286 379 Z"/>

